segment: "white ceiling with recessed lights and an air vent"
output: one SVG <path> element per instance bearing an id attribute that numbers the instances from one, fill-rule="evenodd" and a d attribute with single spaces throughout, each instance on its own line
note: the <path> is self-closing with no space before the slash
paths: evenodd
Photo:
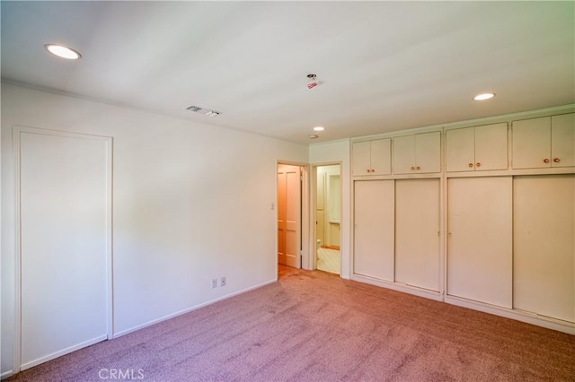
<path id="1" fill-rule="evenodd" d="M 2 1 L 2 78 L 320 142 L 575 103 L 574 5 Z"/>

